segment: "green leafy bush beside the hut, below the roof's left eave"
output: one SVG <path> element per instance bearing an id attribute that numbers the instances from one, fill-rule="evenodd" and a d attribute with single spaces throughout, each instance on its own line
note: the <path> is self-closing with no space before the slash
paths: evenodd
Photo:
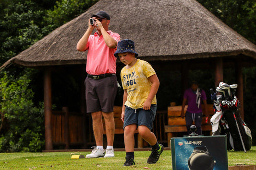
<path id="1" fill-rule="evenodd" d="M 29 73 L 0 79 L 0 113 L 6 123 L 0 133 L 0 151 L 37 152 L 44 145 L 43 106 L 35 107 Z"/>

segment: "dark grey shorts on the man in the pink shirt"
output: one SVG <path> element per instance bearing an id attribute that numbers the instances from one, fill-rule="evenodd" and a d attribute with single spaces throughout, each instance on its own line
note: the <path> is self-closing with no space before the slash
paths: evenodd
<path id="1" fill-rule="evenodd" d="M 85 79 L 85 99 L 87 113 L 113 112 L 117 92 L 117 79 L 113 75 L 103 79 Z"/>

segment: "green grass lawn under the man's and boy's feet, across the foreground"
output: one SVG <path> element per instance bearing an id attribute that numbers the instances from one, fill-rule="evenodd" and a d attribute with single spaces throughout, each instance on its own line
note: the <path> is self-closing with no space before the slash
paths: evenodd
<path id="1" fill-rule="evenodd" d="M 135 166 L 122 167 L 125 152 L 115 152 L 115 158 L 71 159 L 90 152 L 0 153 L 0 169 L 14 170 L 171 170 L 171 151 L 166 150 L 156 164 L 147 164 L 150 151 L 135 152 Z M 256 147 L 250 151 L 228 151 L 229 166 L 256 165 Z"/>

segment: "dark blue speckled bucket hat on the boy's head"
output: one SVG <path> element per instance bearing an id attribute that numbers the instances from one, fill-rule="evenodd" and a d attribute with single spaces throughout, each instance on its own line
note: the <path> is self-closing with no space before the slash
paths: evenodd
<path id="1" fill-rule="evenodd" d="M 135 57 L 139 56 L 138 53 L 136 53 L 136 51 L 134 49 L 134 42 L 132 40 L 129 40 L 129 39 L 121 40 L 121 41 L 118 42 L 117 50 L 114 53 L 114 56 L 119 57 L 118 53 L 125 53 L 125 52 L 134 53 Z"/>

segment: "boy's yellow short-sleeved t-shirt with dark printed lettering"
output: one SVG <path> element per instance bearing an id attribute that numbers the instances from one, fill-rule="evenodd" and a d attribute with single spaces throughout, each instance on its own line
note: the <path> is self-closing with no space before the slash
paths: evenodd
<path id="1" fill-rule="evenodd" d="M 147 79 L 156 74 L 152 66 L 138 59 L 133 67 L 122 68 L 122 88 L 127 90 L 128 96 L 125 105 L 133 109 L 142 108 L 150 92 L 152 83 Z M 151 104 L 157 104 L 156 96 Z"/>

